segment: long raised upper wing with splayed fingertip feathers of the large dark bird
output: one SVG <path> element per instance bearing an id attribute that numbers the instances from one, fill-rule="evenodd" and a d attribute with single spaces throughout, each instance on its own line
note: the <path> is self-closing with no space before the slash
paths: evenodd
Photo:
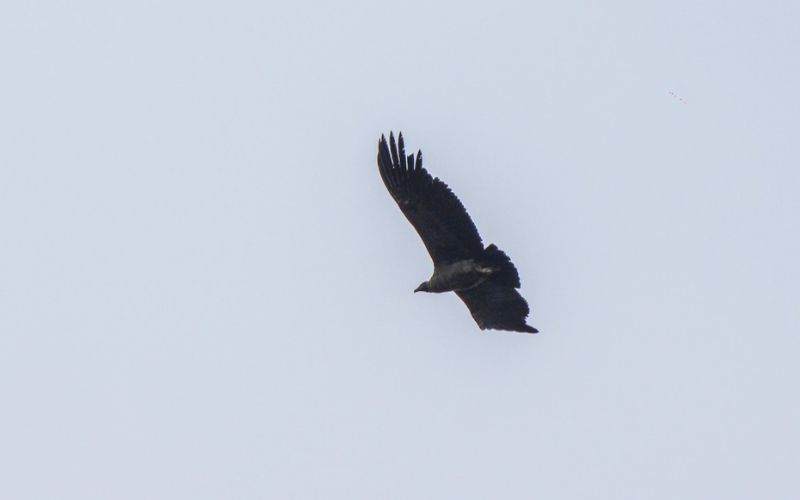
<path id="1" fill-rule="evenodd" d="M 378 143 L 378 168 L 386 189 L 403 215 L 417 230 L 434 265 L 474 258 L 483 243 L 464 205 L 447 184 L 431 177 L 422 168 L 422 152 L 405 154 L 403 134 L 398 135 L 400 150 L 389 134 L 389 144 L 381 135 Z"/>

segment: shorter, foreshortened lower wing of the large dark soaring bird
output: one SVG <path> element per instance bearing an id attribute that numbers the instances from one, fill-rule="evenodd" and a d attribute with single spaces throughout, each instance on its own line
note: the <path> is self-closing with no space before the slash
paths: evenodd
<path id="1" fill-rule="evenodd" d="M 512 332 L 539 332 L 525 323 L 530 309 L 522 295 L 513 287 L 493 283 L 490 278 L 476 287 L 457 290 L 456 295 L 467 305 L 481 330 L 489 328 Z"/>

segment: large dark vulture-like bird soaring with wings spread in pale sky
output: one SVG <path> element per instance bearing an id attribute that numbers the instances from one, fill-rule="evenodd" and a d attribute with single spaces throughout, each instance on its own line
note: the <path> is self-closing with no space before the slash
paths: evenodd
<path id="1" fill-rule="evenodd" d="M 403 134 L 397 144 L 381 135 L 378 168 L 389 194 L 417 230 L 433 259 L 433 276 L 414 292 L 456 292 L 481 330 L 537 333 L 525 323 L 528 303 L 517 292 L 519 273 L 495 245 L 484 248 L 464 205 L 447 185 L 422 168 L 422 151 L 406 157 Z"/>

